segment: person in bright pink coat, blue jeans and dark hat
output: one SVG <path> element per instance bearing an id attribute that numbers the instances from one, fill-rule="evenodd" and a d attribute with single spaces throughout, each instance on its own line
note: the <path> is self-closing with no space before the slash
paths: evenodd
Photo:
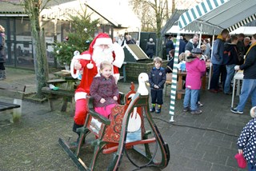
<path id="1" fill-rule="evenodd" d="M 186 56 L 186 93 L 183 101 L 183 111 L 190 111 L 192 114 L 201 114 L 198 109 L 198 93 L 201 89 L 201 78 L 206 73 L 206 62 L 200 60 L 202 50 L 194 48 L 192 54 Z"/>

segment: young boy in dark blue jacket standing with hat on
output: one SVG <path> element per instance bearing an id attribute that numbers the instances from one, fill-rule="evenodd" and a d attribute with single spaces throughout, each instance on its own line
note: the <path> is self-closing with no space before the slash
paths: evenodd
<path id="1" fill-rule="evenodd" d="M 162 107 L 162 89 L 166 82 L 166 70 L 162 68 L 162 58 L 154 58 L 154 67 L 149 74 L 150 92 L 152 108 L 150 112 L 161 113 Z M 158 104 L 158 109 L 155 106 Z"/>

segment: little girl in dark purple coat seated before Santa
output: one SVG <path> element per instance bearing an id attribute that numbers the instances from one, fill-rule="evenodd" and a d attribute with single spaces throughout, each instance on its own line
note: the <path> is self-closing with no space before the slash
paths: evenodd
<path id="1" fill-rule="evenodd" d="M 90 85 L 90 96 L 94 97 L 95 111 L 109 118 L 111 109 L 118 104 L 118 85 L 112 75 L 110 62 L 102 62 L 100 72 L 100 77 L 94 77 Z"/>

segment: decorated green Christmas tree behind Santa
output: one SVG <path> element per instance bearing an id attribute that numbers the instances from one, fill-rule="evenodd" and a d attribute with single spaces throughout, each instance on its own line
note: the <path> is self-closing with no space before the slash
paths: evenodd
<path id="1" fill-rule="evenodd" d="M 88 50 L 98 25 L 98 20 L 90 21 L 90 14 L 86 14 L 86 11 L 78 16 L 70 15 L 70 21 L 72 30 L 68 34 L 68 40 L 54 42 L 54 56 L 62 65 L 70 65 L 75 50 L 80 53 Z"/>

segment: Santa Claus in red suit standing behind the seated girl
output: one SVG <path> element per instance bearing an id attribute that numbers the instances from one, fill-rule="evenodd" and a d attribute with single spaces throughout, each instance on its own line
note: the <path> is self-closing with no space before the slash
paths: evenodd
<path id="1" fill-rule="evenodd" d="M 75 133 L 78 133 L 76 130 L 85 123 L 87 114 L 86 95 L 90 94 L 90 84 L 95 76 L 99 76 L 99 66 L 103 61 L 113 64 L 114 78 L 118 81 L 120 76 L 118 68 L 122 66 L 124 61 L 124 52 L 122 47 L 117 43 L 113 44 L 108 34 L 101 33 L 91 42 L 89 50 L 83 52 L 81 55 L 76 55 L 71 62 L 70 69 L 72 76 L 78 78 L 78 75 L 82 74 L 81 83 L 78 85 L 74 94 L 76 104 L 73 131 Z"/>

